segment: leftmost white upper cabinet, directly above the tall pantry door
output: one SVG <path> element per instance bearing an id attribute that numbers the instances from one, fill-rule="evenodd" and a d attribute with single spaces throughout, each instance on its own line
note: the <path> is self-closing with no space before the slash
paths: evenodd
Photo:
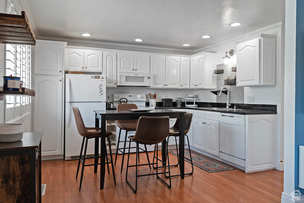
<path id="1" fill-rule="evenodd" d="M 36 40 L 34 74 L 62 75 L 63 52 L 66 42 Z"/>

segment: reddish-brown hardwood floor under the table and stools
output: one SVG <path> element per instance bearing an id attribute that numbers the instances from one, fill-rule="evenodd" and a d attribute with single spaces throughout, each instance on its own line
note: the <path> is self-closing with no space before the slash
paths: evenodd
<path id="1" fill-rule="evenodd" d="M 149 156 L 152 159 L 153 153 Z M 176 156 L 169 153 L 169 157 L 171 164 L 176 163 Z M 183 180 L 172 178 L 171 189 L 156 176 L 139 177 L 137 194 L 134 194 L 126 183 L 127 156 L 120 174 L 121 158 L 119 155 L 115 166 L 116 186 L 111 167 L 110 175 L 105 174 L 105 187 L 100 190 L 99 167 L 94 173 L 94 166 L 87 166 L 80 192 L 80 175 L 75 179 L 78 160 L 42 161 L 42 184 L 47 184 L 42 202 L 281 202 L 283 171 L 278 170 L 245 173 L 236 169 L 208 173 L 194 166 L 193 175 L 185 176 Z M 141 153 L 140 163 L 146 159 Z M 130 160 L 135 160 L 135 154 L 130 155 Z M 93 163 L 93 159 L 86 159 L 86 163 Z M 185 162 L 185 170 L 191 170 L 190 163 Z M 178 167 L 171 167 L 172 175 L 178 171 Z M 149 172 L 148 166 L 139 169 L 139 174 Z M 128 180 L 135 183 L 134 176 L 135 167 L 129 168 Z"/>

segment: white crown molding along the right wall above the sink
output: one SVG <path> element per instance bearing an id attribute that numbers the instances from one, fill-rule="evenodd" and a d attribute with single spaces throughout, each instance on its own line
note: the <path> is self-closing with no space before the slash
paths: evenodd
<path id="1" fill-rule="evenodd" d="M 213 45 L 210 45 L 210 46 L 207 46 L 207 47 L 203 47 L 203 48 L 200 48 L 200 49 L 197 49 L 197 50 L 194 50 L 194 54 L 197 54 L 199 52 L 202 52 L 202 51 L 206 51 L 206 50 L 209 50 L 209 49 L 213 49 L 213 48 L 216 48 L 216 47 L 219 47 L 219 46 L 222 46 L 222 45 L 225 45 L 225 44 L 229 44 L 229 43 L 232 43 L 232 42 L 236 42 L 236 41 L 239 41 L 239 40 L 243 40 L 243 39 L 246 39 L 248 37 L 252 37 L 254 35 L 257 35 L 257 34 L 261 34 L 261 33 L 264 33 L 264 32 L 268 32 L 270 30 L 275 30 L 277 28 L 281 28 L 281 27 L 285 27 L 285 23 L 275 23 L 273 25 L 270 25 L 270 26 L 266 26 L 266 27 L 263 27 L 261 29 L 258 29 L 258 30 L 254 30 L 252 32 L 249 32 L 249 33 L 246 33 L 246 34 L 243 34 L 243 35 L 240 35 L 238 37 L 233 37 L 229 40 L 226 40 L 226 41 L 223 41 L 223 42 L 219 42 L 217 44 L 213 44 Z"/>

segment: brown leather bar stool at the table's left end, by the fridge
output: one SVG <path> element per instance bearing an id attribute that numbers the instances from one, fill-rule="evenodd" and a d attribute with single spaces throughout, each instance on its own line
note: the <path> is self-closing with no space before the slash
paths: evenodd
<path id="1" fill-rule="evenodd" d="M 82 183 L 82 178 L 83 178 L 83 170 L 84 170 L 85 166 L 95 166 L 95 165 L 100 165 L 101 164 L 101 163 L 95 163 L 95 164 L 87 164 L 87 165 L 85 165 L 88 139 L 91 139 L 91 138 L 100 138 L 101 128 L 87 128 L 87 127 L 85 127 L 85 123 L 83 122 L 81 114 L 80 114 L 80 111 L 79 111 L 79 109 L 77 107 L 73 107 L 73 113 L 74 113 L 74 117 L 75 117 L 78 133 L 81 136 L 83 136 L 81 150 L 80 150 L 80 156 L 79 156 L 79 161 L 78 161 L 78 166 L 77 166 L 77 173 L 76 173 L 76 179 L 77 179 L 77 177 L 78 177 L 78 171 L 79 171 L 79 166 L 80 166 L 80 162 L 81 162 L 82 163 L 82 170 L 81 170 L 80 186 L 79 186 L 79 191 L 80 191 L 80 189 L 81 189 L 81 183 Z M 106 138 L 108 138 L 109 151 L 110 151 L 110 157 L 111 158 L 109 158 L 107 155 L 105 155 L 105 157 L 109 160 L 109 161 L 106 162 L 106 164 L 108 165 L 108 173 L 109 174 L 110 174 L 110 172 L 109 172 L 109 163 L 112 164 L 112 173 L 113 173 L 113 178 L 114 178 L 114 184 L 116 185 L 115 171 L 114 171 L 113 158 L 112 158 L 112 150 L 111 150 L 111 143 L 110 143 L 110 135 L 112 135 L 112 134 L 113 133 L 109 132 L 109 131 L 105 132 L 105 136 L 106 136 Z M 84 152 L 83 158 L 81 158 L 84 143 L 85 143 L 85 152 Z M 101 149 L 101 150 L 105 150 L 106 151 L 107 150 L 106 149 L 106 145 L 104 145 L 104 148 Z M 105 154 L 107 154 L 107 152 Z M 93 157 L 90 157 L 90 158 L 97 158 L 97 157 L 100 157 L 100 156 L 93 156 Z M 82 159 L 83 159 L 83 161 L 82 161 Z"/>

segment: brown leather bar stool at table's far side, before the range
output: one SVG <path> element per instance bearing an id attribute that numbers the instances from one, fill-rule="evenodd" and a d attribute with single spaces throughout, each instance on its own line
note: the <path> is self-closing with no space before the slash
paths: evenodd
<path id="1" fill-rule="evenodd" d="M 137 105 L 133 104 L 133 103 L 120 103 L 120 104 L 117 105 L 117 108 L 116 108 L 117 111 L 123 111 L 123 110 L 128 110 L 128 109 L 138 109 L 138 108 L 137 108 Z M 123 153 L 120 173 L 123 172 L 123 160 L 124 160 L 125 154 L 126 154 L 126 143 L 130 142 L 130 141 L 127 141 L 127 134 L 128 134 L 129 131 L 136 131 L 137 123 L 138 123 L 138 120 L 120 120 L 120 121 L 116 121 L 116 126 L 119 127 L 120 129 L 119 129 L 119 135 L 118 135 L 118 142 L 117 142 L 114 166 L 116 166 L 117 154 L 118 154 L 118 151 L 120 151 L 120 152 Z M 120 141 L 121 130 L 126 131 L 125 141 Z M 119 148 L 119 143 L 120 142 L 124 142 L 123 148 Z M 144 145 L 144 147 L 145 147 L 145 149 L 141 149 L 141 148 L 140 149 L 143 150 L 143 151 L 146 151 L 147 159 L 148 159 L 148 162 L 150 163 L 146 145 Z M 130 149 L 132 149 L 132 148 L 135 148 L 135 147 L 131 147 L 131 148 L 129 147 L 128 153 L 130 152 Z M 150 169 L 151 169 L 151 166 L 150 166 Z"/>

